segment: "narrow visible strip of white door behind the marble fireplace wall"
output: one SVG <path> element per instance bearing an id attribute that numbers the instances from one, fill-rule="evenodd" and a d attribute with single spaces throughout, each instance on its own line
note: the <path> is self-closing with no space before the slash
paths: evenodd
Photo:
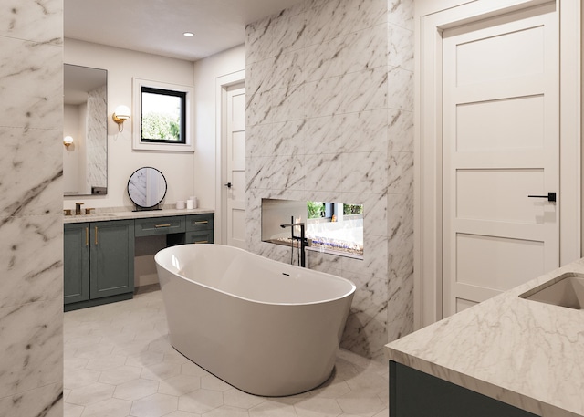
<path id="1" fill-rule="evenodd" d="M 225 239 L 230 246 L 245 247 L 245 87 L 228 87 L 225 95 L 224 204 Z"/>

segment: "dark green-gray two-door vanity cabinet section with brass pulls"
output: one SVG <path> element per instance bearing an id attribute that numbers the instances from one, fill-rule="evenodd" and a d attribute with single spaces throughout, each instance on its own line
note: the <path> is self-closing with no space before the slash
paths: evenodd
<path id="1" fill-rule="evenodd" d="M 65 224 L 65 310 L 129 299 L 134 291 L 134 222 Z"/>

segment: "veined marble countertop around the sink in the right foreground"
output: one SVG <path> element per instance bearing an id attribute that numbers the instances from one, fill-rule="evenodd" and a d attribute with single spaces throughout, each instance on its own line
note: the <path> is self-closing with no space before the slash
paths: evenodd
<path id="1" fill-rule="evenodd" d="M 584 310 L 518 297 L 584 259 L 385 347 L 386 356 L 445 381 L 550 417 L 584 416 Z"/>

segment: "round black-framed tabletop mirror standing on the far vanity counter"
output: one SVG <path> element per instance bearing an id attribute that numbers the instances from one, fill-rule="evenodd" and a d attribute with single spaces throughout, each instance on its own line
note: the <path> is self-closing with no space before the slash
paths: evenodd
<path id="1" fill-rule="evenodd" d="M 142 167 L 130 175 L 128 195 L 136 204 L 136 211 L 160 210 L 166 195 L 166 179 L 162 172 L 152 167 Z"/>

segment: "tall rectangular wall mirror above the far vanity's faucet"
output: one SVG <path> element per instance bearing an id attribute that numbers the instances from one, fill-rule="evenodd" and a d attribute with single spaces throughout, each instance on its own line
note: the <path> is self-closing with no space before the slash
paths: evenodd
<path id="1" fill-rule="evenodd" d="M 70 64 L 64 64 L 63 70 L 63 137 L 69 137 L 63 151 L 65 195 L 105 194 L 108 191 L 108 71 Z"/>

